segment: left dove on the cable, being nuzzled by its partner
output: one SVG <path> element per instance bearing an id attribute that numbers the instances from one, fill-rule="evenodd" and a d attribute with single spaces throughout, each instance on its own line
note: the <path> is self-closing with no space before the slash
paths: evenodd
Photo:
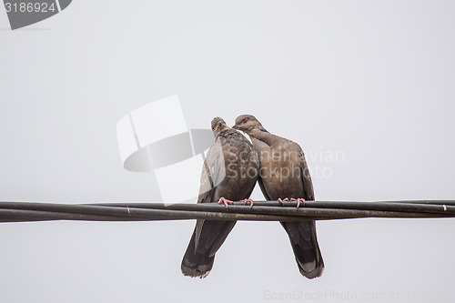
<path id="1" fill-rule="evenodd" d="M 207 151 L 202 167 L 197 203 L 249 202 L 258 180 L 258 153 L 237 130 L 215 117 L 211 123 L 215 143 Z M 185 276 L 206 278 L 213 267 L 215 253 L 235 226 L 236 221 L 198 219 L 181 269 Z"/>

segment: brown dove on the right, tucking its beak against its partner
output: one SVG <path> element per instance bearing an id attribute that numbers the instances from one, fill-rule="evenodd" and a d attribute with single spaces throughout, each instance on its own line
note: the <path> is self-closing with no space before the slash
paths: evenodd
<path id="1" fill-rule="evenodd" d="M 250 136 L 259 157 L 258 184 L 267 200 L 314 200 L 313 184 L 303 150 L 297 143 L 269 133 L 255 116 L 242 115 L 232 128 Z M 315 221 L 280 222 L 288 233 L 298 269 L 317 278 L 324 261 L 316 237 Z"/>

